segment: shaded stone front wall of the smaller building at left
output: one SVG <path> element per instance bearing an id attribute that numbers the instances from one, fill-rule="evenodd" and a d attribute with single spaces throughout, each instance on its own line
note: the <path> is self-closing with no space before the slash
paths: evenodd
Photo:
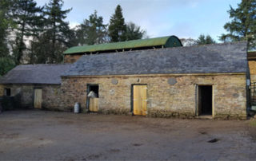
<path id="1" fill-rule="evenodd" d="M 0 85 L 2 88 L 10 88 L 11 96 L 20 99 L 22 108 L 34 107 L 34 88 L 42 88 L 42 108 L 54 109 L 61 101 L 60 85 Z"/>

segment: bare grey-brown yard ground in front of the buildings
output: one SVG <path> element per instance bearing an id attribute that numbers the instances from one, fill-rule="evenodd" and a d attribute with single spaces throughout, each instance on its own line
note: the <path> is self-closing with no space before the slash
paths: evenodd
<path id="1" fill-rule="evenodd" d="M 3 112 L 0 160 L 255 160 L 255 123 Z"/>

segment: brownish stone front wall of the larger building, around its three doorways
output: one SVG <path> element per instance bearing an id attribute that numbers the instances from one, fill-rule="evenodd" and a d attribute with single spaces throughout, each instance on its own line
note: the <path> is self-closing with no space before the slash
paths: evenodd
<path id="1" fill-rule="evenodd" d="M 173 78 L 173 85 L 168 80 Z M 113 84 L 113 79 L 118 84 Z M 177 81 L 175 83 L 175 81 Z M 70 77 L 62 78 L 60 110 L 70 110 L 79 102 L 86 112 L 87 84 L 99 85 L 99 112 L 131 112 L 132 84 L 147 84 L 147 116 L 194 117 L 197 84 L 212 84 L 214 118 L 246 118 L 246 75 L 183 75 L 158 77 Z"/>

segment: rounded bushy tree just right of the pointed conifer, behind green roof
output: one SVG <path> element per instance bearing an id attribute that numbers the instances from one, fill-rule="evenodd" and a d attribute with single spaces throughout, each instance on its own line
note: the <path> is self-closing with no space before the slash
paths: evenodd
<path id="1" fill-rule="evenodd" d="M 142 30 L 140 26 L 136 26 L 134 22 L 126 24 L 126 41 L 142 39 L 146 35 L 146 31 Z"/>

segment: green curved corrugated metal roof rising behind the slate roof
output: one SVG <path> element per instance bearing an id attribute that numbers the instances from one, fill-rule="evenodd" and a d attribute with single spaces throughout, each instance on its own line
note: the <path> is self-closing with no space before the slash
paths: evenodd
<path id="1" fill-rule="evenodd" d="M 84 46 L 75 46 L 70 49 L 67 49 L 64 54 L 73 54 L 73 53 L 90 53 L 90 52 L 99 52 L 107 50 L 116 50 L 116 49 L 136 49 L 142 47 L 158 46 L 164 45 L 164 47 L 175 47 L 182 46 L 181 41 L 178 37 L 157 37 L 157 38 L 147 38 L 142 40 L 134 41 L 122 41 L 114 43 L 106 43 L 99 45 L 84 45 Z"/>

